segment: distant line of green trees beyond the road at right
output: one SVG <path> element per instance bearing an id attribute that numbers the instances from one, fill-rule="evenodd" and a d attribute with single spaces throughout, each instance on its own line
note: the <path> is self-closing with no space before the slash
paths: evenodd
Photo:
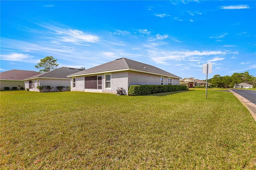
<path id="1" fill-rule="evenodd" d="M 206 81 L 206 80 L 204 80 Z M 214 75 L 212 78 L 208 79 L 208 83 L 211 83 L 214 87 L 223 87 L 223 88 L 233 88 L 234 85 L 239 83 L 248 83 L 253 85 L 253 88 L 256 86 L 256 77 L 249 74 L 249 71 L 244 73 L 234 73 L 229 76 Z"/>

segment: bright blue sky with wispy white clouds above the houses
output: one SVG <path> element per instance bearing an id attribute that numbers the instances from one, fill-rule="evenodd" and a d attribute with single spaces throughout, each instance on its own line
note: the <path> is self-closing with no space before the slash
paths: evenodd
<path id="1" fill-rule="evenodd" d="M 0 1 L 0 71 L 126 57 L 179 77 L 256 76 L 256 1 Z"/>

